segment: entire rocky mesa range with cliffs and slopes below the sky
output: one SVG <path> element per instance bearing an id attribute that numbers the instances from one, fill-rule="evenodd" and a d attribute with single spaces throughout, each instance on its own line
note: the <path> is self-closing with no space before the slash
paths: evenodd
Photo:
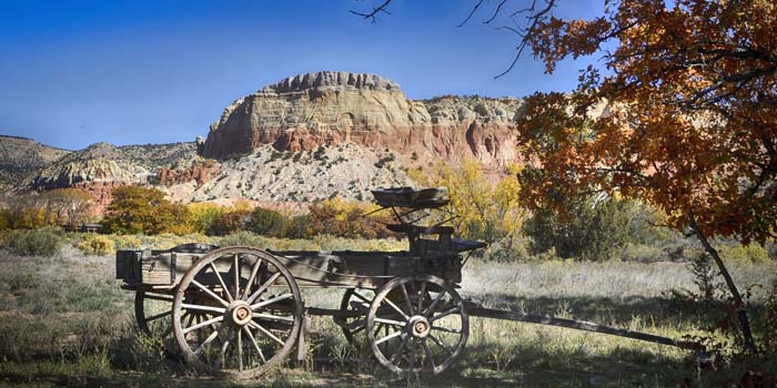
<path id="1" fill-rule="evenodd" d="M 157 185 L 181 202 L 369 201 L 371 188 L 413 185 L 410 167 L 473 157 L 498 174 L 521 162 L 522 106 L 514 98 L 414 101 L 380 75 L 324 71 L 236 100 L 196 142 L 68 152 L 0 137 L 0 177 L 14 187 L 82 187 L 101 204 L 132 183 Z"/>

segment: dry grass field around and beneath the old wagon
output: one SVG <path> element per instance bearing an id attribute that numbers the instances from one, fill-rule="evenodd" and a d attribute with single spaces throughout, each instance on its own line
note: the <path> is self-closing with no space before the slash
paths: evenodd
<path id="1" fill-rule="evenodd" d="M 734 265 L 744 288 L 769 285 L 774 264 Z M 65 248 L 53 258 L 0 252 L 0 385 L 4 386 L 518 386 L 675 387 L 686 379 L 709 386 L 690 353 L 564 328 L 471 318 L 460 360 L 442 376 L 397 378 L 369 349 L 347 345 L 327 318 L 305 363 L 251 382 L 194 378 L 139 336 L 132 294 L 113 279 L 110 256 Z M 677 297 L 694 289 L 678 263 L 483 263 L 464 270 L 461 294 L 487 307 L 585 319 L 679 338 L 703 334 L 722 306 Z M 305 290 L 307 305 L 336 307 L 342 290 Z M 756 288 L 750 316 L 760 327 L 765 292 Z M 725 312 L 725 308 L 724 308 Z"/>

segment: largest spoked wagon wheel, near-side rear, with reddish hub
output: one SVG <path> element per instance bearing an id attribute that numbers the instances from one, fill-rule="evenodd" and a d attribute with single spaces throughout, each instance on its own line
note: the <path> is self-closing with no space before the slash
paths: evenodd
<path id="1" fill-rule="evenodd" d="M 252 378 L 294 347 L 302 308 L 296 282 L 279 258 L 250 247 L 221 248 L 202 256 L 181 279 L 173 331 L 196 369 Z"/>

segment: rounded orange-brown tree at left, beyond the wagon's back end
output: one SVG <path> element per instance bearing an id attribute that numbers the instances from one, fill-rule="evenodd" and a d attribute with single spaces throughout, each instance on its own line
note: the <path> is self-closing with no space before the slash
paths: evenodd
<path id="1" fill-rule="evenodd" d="M 113 190 L 103 224 L 112 233 L 160 234 L 191 232 L 189 210 L 164 198 L 152 187 L 121 186 Z"/>

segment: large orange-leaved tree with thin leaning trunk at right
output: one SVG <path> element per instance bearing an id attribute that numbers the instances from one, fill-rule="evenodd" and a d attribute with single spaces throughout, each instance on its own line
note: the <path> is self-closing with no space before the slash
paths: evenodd
<path id="1" fill-rule="evenodd" d="M 754 349 L 743 299 L 708 238 L 777 234 L 775 2 L 605 0 L 593 20 L 556 18 L 555 0 L 506 3 L 483 11 L 484 22 L 515 22 L 504 29 L 518 40 L 516 60 L 529 49 L 553 73 L 567 58 L 602 55 L 574 93 L 526 100 L 519 141 L 541 169 L 526 170 L 523 197 L 563 208 L 579 193 L 619 192 L 660 208 L 715 259 Z M 607 114 L 592 116 L 602 103 Z"/>

